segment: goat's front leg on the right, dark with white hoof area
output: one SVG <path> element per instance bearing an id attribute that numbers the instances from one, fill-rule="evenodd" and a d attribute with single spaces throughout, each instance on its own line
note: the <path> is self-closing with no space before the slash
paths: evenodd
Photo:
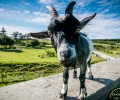
<path id="1" fill-rule="evenodd" d="M 87 64 L 80 66 L 80 96 L 79 99 L 84 99 L 87 96 L 86 87 L 85 87 L 85 74 L 86 74 Z"/>

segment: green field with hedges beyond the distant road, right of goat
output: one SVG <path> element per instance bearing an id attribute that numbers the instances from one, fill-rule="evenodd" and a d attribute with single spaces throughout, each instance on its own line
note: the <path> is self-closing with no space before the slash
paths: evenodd
<path id="1" fill-rule="evenodd" d="M 120 57 L 120 39 L 93 39 L 94 47 L 99 52 L 112 57 Z"/>

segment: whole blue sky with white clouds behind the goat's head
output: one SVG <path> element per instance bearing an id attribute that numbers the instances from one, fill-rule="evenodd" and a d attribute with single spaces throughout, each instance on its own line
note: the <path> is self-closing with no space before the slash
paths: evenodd
<path id="1" fill-rule="evenodd" d="M 73 0 L 0 0 L 0 30 L 23 34 L 47 30 L 51 20 L 46 6 L 53 6 L 60 16 Z M 97 15 L 81 32 L 91 39 L 120 39 L 120 0 L 74 0 L 73 15 L 81 21 Z"/>

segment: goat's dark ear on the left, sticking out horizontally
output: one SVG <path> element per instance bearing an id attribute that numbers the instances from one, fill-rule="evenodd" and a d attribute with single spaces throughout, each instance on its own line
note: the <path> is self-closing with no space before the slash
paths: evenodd
<path id="1" fill-rule="evenodd" d="M 38 33 L 30 33 L 32 37 L 38 38 L 38 39 L 43 39 L 43 38 L 49 38 L 48 36 L 48 31 L 42 31 Z"/>

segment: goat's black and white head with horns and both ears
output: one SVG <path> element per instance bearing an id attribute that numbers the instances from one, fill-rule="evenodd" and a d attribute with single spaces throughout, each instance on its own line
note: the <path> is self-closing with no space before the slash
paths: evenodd
<path id="1" fill-rule="evenodd" d="M 52 16 L 48 30 L 39 33 L 31 33 L 31 36 L 36 38 L 50 37 L 57 52 L 58 59 L 64 65 L 68 65 L 75 60 L 75 44 L 79 37 L 79 31 L 96 15 L 95 13 L 82 21 L 77 20 L 72 15 L 75 3 L 76 2 L 73 1 L 67 6 L 63 16 L 59 16 L 53 7 L 47 6 Z"/>

